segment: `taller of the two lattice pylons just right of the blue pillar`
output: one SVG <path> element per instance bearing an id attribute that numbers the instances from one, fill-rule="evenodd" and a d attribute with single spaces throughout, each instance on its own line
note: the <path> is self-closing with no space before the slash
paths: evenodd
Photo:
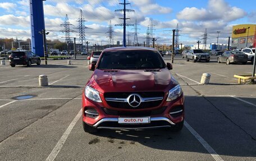
<path id="1" fill-rule="evenodd" d="M 81 44 L 81 50 L 83 51 L 84 46 L 85 46 L 85 29 L 90 29 L 90 28 L 86 27 L 84 25 L 86 20 L 84 19 L 84 15 L 83 15 L 82 10 L 80 10 L 79 18 L 76 21 L 78 22 L 78 26 L 75 29 L 79 30 L 79 44 Z"/>

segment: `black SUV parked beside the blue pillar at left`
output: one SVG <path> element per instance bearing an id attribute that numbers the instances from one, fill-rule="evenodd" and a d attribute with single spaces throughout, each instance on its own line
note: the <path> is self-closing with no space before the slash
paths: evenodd
<path id="1" fill-rule="evenodd" d="M 9 59 L 11 67 L 15 67 L 15 65 L 26 65 L 30 67 L 33 63 L 36 63 L 36 65 L 40 65 L 41 63 L 40 57 L 30 51 L 14 51 L 9 56 Z"/>

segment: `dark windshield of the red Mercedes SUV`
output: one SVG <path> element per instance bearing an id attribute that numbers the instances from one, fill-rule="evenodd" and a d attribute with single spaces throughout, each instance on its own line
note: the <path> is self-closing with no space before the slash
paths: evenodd
<path id="1" fill-rule="evenodd" d="M 123 50 L 103 53 L 98 69 L 165 68 L 161 56 L 150 50 Z"/>

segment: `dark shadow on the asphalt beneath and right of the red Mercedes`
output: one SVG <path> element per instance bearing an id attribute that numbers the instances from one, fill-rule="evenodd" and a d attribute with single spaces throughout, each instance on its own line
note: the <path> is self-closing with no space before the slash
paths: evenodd
<path id="1" fill-rule="evenodd" d="M 254 98 L 239 98 L 256 104 Z M 185 120 L 219 155 L 256 157 L 256 108 L 232 97 L 185 96 Z M 239 119 L 237 119 L 239 118 Z M 81 127 L 82 128 L 82 127 Z M 95 137 L 118 144 L 141 144 L 152 149 L 206 153 L 185 126 L 180 132 L 101 129 Z M 124 140 L 124 141 L 122 141 Z"/>

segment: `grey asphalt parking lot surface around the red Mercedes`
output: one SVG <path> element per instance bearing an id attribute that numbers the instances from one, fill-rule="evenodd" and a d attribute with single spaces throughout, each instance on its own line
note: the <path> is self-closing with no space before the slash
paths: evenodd
<path id="1" fill-rule="evenodd" d="M 92 71 L 85 56 L 77 58 L 72 65 L 0 66 L 0 160 L 256 160 L 256 85 L 239 85 L 233 77 L 252 73 L 251 63 L 227 66 L 216 57 L 193 63 L 176 56 L 171 72 L 185 94 L 181 132 L 92 135 L 81 123 L 81 93 Z M 210 84 L 201 85 L 205 72 Z M 38 86 L 42 74 L 47 87 Z"/>

